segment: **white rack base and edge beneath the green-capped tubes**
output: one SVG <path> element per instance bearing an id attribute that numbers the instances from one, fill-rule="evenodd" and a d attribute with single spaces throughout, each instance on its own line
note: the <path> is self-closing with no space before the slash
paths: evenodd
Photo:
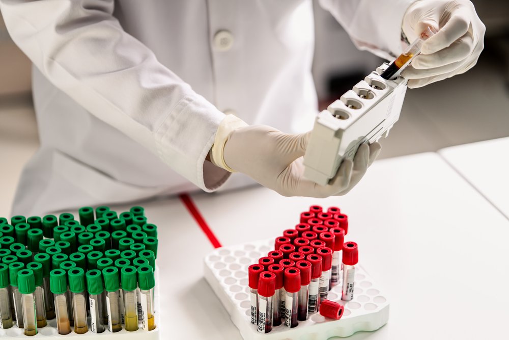
<path id="1" fill-rule="evenodd" d="M 71 333 L 67 335 L 61 335 L 59 334 L 58 330 L 56 329 L 56 319 L 48 320 L 48 325 L 46 327 L 38 328 L 38 333 L 34 336 L 26 336 L 23 334 L 23 329 L 18 328 L 15 325 L 8 329 L 2 329 L 0 328 L 0 338 L 2 339 L 42 339 L 45 340 L 62 340 L 62 339 L 69 339 L 69 338 L 79 338 L 79 339 L 97 339 L 100 338 L 102 340 L 136 340 L 143 338 L 144 340 L 159 340 L 160 338 L 160 324 L 161 320 L 159 318 L 158 311 L 161 309 L 159 301 L 160 299 L 160 292 L 159 292 L 159 270 L 156 266 L 156 271 L 154 272 L 154 277 L 156 281 L 156 285 L 154 287 L 154 301 L 156 303 L 156 309 L 155 309 L 155 322 L 156 322 L 156 328 L 151 331 L 145 331 L 141 327 L 134 332 L 128 332 L 125 330 L 125 328 L 122 328 L 121 331 L 111 333 L 107 329 L 102 333 L 94 333 L 91 331 L 91 324 L 90 324 L 90 317 L 88 320 L 88 326 L 89 331 L 84 334 L 76 334 L 74 331 L 71 331 Z M 14 322 L 16 323 L 16 322 Z M 72 327 L 71 327 L 72 328 Z"/>

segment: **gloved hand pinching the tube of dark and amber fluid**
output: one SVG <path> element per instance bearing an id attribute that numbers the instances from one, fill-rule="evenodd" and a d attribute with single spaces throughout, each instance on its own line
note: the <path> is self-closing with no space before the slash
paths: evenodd
<path id="1" fill-rule="evenodd" d="M 413 42 L 428 26 L 438 31 L 402 75 L 416 88 L 472 68 L 484 48 L 486 27 L 467 0 L 420 0 L 407 9 L 403 32 Z"/>

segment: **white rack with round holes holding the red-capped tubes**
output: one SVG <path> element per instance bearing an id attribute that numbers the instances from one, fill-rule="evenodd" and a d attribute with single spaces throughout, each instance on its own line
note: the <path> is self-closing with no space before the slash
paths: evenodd
<path id="1" fill-rule="evenodd" d="M 389 302 L 373 279 L 356 267 L 354 298 L 341 300 L 341 286 L 329 291 L 329 300 L 345 306 L 340 320 L 325 319 L 315 313 L 299 325 L 273 327 L 269 333 L 259 333 L 250 323 L 250 302 L 247 268 L 258 263 L 261 256 L 272 250 L 274 240 L 250 242 L 221 247 L 209 253 L 205 259 L 205 279 L 230 314 L 244 340 L 310 340 L 327 339 L 333 336 L 347 337 L 358 331 L 375 331 L 389 319 Z"/>

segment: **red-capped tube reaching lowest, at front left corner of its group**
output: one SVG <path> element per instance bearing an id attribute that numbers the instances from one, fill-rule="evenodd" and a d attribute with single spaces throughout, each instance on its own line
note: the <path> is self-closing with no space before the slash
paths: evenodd
<path id="1" fill-rule="evenodd" d="M 275 293 L 276 275 L 272 272 L 260 273 L 258 280 L 258 331 L 268 333 L 272 330 L 272 299 Z"/>

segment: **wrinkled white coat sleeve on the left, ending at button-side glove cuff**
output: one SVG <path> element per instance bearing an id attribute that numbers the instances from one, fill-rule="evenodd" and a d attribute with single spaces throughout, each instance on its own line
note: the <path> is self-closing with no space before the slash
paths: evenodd
<path id="1" fill-rule="evenodd" d="M 0 9 L 14 42 L 83 108 L 205 191 L 228 178 L 205 161 L 224 114 L 122 29 L 114 0 L 0 0 Z"/>

